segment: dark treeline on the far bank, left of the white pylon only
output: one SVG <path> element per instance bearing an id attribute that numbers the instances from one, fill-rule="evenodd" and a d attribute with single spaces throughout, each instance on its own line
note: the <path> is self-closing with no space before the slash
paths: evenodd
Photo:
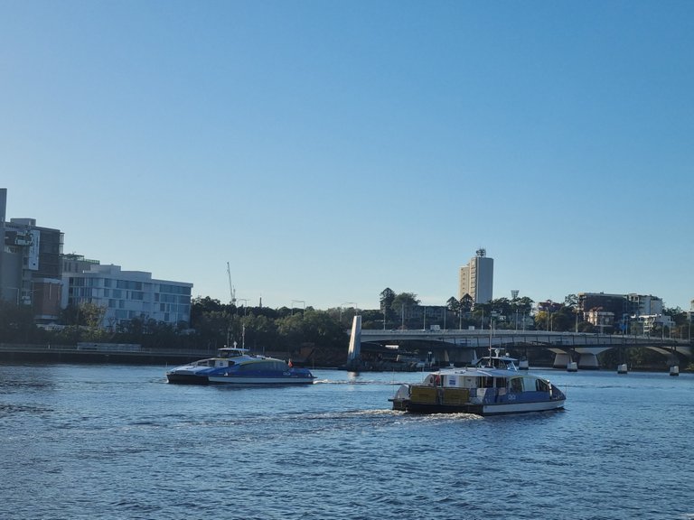
<path id="1" fill-rule="evenodd" d="M 0 301 L 0 343 L 135 343 L 201 352 L 237 345 L 332 365 L 344 362 L 349 343 L 345 330 L 354 313 L 354 309 L 238 307 L 205 297 L 193 299 L 190 324 L 135 318 L 103 327 L 104 310 L 83 304 L 63 310 L 57 326 L 40 327 L 33 322 L 31 307 Z"/>

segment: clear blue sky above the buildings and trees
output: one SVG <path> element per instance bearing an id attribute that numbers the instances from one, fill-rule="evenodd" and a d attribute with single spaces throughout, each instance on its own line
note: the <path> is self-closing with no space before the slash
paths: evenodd
<path id="1" fill-rule="evenodd" d="M 7 217 L 193 295 L 694 299 L 691 1 L 0 0 L 0 95 Z"/>

